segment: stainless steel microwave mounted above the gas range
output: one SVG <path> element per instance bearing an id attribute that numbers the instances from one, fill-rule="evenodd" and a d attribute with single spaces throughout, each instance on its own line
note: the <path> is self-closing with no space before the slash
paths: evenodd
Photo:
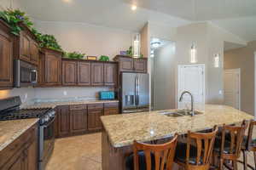
<path id="1" fill-rule="evenodd" d="M 15 88 L 34 86 L 38 83 L 38 68 L 20 59 L 14 61 Z"/>

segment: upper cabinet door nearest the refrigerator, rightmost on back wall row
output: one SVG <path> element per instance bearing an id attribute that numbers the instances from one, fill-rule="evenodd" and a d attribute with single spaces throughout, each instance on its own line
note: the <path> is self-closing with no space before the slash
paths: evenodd
<path id="1" fill-rule="evenodd" d="M 104 85 L 117 85 L 118 71 L 115 63 L 104 63 Z"/>

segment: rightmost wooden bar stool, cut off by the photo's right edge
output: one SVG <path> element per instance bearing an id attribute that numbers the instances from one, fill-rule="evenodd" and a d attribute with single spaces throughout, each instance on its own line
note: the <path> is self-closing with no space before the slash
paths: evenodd
<path id="1" fill-rule="evenodd" d="M 244 170 L 247 170 L 247 167 L 251 169 L 256 169 L 256 139 L 253 139 L 253 127 L 256 126 L 256 121 L 250 121 L 248 135 L 244 137 L 241 144 L 241 151 L 243 153 L 243 163 Z M 254 156 L 254 167 L 247 164 L 247 152 L 253 151 Z"/>

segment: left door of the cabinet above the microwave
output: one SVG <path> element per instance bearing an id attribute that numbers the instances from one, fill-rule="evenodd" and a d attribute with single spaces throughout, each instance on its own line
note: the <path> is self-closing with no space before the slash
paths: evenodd
<path id="1" fill-rule="evenodd" d="M 20 59 L 30 62 L 31 59 L 31 38 L 26 34 L 26 32 L 20 32 Z"/>

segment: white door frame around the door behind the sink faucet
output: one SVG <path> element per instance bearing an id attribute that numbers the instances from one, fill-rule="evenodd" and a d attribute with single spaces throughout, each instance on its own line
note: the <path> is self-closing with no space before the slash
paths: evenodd
<path id="1" fill-rule="evenodd" d="M 179 97 L 180 97 L 180 94 L 179 94 L 179 91 L 180 91 L 180 82 L 181 82 L 181 69 L 182 67 L 184 66 L 201 66 L 202 69 L 203 69 L 203 104 L 206 103 L 206 65 L 205 64 L 195 64 L 195 65 L 177 65 L 177 96 L 176 96 L 176 99 L 177 99 L 177 108 L 179 108 Z"/>

